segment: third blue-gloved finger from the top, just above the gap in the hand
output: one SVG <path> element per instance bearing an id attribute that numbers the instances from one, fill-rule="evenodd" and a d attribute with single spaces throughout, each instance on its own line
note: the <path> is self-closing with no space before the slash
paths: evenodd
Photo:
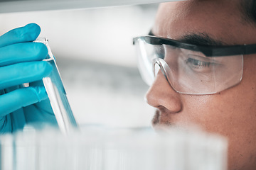
<path id="1" fill-rule="evenodd" d="M 0 67 L 0 89 L 38 81 L 47 77 L 53 67 L 48 62 L 22 62 Z"/>

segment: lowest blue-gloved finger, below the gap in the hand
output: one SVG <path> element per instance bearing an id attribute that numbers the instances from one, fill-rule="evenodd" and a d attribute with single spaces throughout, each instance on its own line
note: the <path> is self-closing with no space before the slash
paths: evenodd
<path id="1" fill-rule="evenodd" d="M 43 86 L 16 89 L 15 91 L 0 96 L 0 116 L 5 116 L 21 107 L 38 103 L 46 98 L 48 98 L 48 96 Z"/>

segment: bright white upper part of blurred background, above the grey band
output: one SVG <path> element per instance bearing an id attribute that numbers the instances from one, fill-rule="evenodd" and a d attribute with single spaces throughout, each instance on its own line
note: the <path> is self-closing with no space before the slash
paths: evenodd
<path id="1" fill-rule="evenodd" d="M 149 32 L 156 5 L 0 13 L 0 34 L 38 23 L 56 57 L 136 66 L 132 38 Z"/>

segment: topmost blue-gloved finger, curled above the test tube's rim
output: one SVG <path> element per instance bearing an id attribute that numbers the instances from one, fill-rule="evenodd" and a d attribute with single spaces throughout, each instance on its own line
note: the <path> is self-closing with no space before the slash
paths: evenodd
<path id="1" fill-rule="evenodd" d="M 0 47 L 12 45 L 20 42 L 31 42 L 38 38 L 41 32 L 40 26 L 36 23 L 29 23 L 28 25 L 20 28 L 15 28 L 9 32 L 1 35 Z"/>

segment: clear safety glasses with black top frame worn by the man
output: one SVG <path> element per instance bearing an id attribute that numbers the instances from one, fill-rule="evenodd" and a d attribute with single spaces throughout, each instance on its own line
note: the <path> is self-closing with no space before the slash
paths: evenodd
<path id="1" fill-rule="evenodd" d="M 134 45 L 146 84 L 162 73 L 176 92 L 190 95 L 216 94 L 239 84 L 243 55 L 256 53 L 256 45 L 192 45 L 156 36 L 134 38 Z"/>

